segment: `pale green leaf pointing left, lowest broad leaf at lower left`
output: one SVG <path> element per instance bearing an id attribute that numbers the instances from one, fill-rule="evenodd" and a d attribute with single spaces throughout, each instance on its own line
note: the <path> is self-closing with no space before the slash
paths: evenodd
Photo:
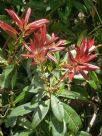
<path id="1" fill-rule="evenodd" d="M 37 107 L 37 105 L 38 105 L 38 103 L 31 104 L 30 102 L 20 105 L 11 111 L 9 117 L 17 117 L 17 116 L 23 116 L 25 114 L 28 114 L 28 113 L 32 112 L 34 110 L 34 108 Z"/>

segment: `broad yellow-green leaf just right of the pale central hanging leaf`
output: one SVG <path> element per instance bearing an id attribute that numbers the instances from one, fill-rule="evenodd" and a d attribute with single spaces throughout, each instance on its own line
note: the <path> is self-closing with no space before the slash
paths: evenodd
<path id="1" fill-rule="evenodd" d="M 66 123 L 68 123 L 68 129 L 76 134 L 79 128 L 82 127 L 81 119 L 76 111 L 72 109 L 69 105 L 63 103 L 63 107 L 65 111 L 64 119 Z"/>

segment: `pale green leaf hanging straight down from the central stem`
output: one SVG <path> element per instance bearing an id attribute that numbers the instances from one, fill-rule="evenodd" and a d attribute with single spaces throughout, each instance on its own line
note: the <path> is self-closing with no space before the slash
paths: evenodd
<path id="1" fill-rule="evenodd" d="M 64 118 L 63 105 L 54 95 L 51 95 L 51 107 L 55 117 L 58 119 L 58 121 L 62 122 Z"/>

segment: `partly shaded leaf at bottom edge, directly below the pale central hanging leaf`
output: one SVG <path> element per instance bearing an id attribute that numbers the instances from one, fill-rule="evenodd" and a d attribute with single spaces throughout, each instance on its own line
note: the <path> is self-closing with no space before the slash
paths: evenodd
<path id="1" fill-rule="evenodd" d="M 51 117 L 50 126 L 52 128 L 53 136 L 65 136 L 67 131 L 65 121 L 59 122 L 56 118 Z"/>

